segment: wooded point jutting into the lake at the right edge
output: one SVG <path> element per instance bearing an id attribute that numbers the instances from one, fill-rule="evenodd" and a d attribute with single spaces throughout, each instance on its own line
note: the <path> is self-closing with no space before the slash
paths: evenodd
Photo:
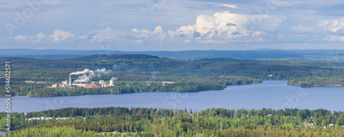
<path id="1" fill-rule="evenodd" d="M 289 85 L 299 85 L 303 88 L 317 86 L 344 86 L 344 77 L 299 77 L 288 80 Z"/>

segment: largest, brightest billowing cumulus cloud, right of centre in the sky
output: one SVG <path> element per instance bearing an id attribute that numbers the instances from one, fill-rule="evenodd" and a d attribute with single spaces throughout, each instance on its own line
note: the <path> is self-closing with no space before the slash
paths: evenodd
<path id="1" fill-rule="evenodd" d="M 260 42 L 260 31 L 248 30 L 246 25 L 257 15 L 233 14 L 228 11 L 215 12 L 213 15 L 201 14 L 197 16 L 193 25 L 182 26 L 174 31 L 168 31 L 168 37 L 193 39 L 202 43 L 226 42 Z M 259 15 L 264 20 L 270 16 Z M 187 42 L 190 42 L 189 40 Z"/>

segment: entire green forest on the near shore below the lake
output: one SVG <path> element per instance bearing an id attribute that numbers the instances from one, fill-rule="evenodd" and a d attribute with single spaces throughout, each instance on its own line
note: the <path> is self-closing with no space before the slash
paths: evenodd
<path id="1" fill-rule="evenodd" d="M 344 136 L 344 112 L 323 109 L 208 108 L 196 112 L 109 107 L 12 114 L 16 130 L 4 136 Z M 41 116 L 71 119 L 25 120 Z M 5 117 L 1 112 L 0 123 Z"/>

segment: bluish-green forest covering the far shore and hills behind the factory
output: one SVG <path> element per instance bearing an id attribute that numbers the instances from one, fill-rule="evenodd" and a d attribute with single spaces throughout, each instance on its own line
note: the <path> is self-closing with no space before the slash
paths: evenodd
<path id="1" fill-rule="evenodd" d="M 234 58 L 210 58 L 193 61 L 159 58 L 155 55 L 114 54 L 87 55 L 60 60 L 40 60 L 32 58 L 3 57 L 0 61 L 11 62 L 12 95 L 30 97 L 53 97 L 66 95 L 119 94 L 129 92 L 197 92 L 202 90 L 222 90 L 226 86 L 259 84 L 266 79 L 288 79 L 292 85 L 306 87 L 307 82 L 299 79 L 317 79 L 321 86 L 326 77 L 343 84 L 344 62 L 333 60 L 237 60 Z M 107 88 L 47 88 L 61 84 L 69 74 L 85 69 L 111 70 L 101 77 L 92 77 L 89 82 L 118 77 L 116 86 Z M 4 73 L 1 71 L 1 73 Z M 2 78 L 2 77 L 1 77 Z M 77 76 L 73 76 L 76 79 Z M 0 79 L 3 86 L 5 79 Z M 37 83 L 30 84 L 26 81 Z M 314 81 L 314 80 L 312 80 Z M 146 82 L 151 82 L 147 85 Z M 161 84 L 160 82 L 174 82 Z M 300 84 L 294 83 L 298 82 Z M 339 82 L 339 83 L 338 83 Z M 0 96 L 5 95 L 4 88 Z"/>

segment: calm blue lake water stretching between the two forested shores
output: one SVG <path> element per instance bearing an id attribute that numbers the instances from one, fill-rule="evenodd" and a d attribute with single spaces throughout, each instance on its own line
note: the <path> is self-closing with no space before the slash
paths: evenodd
<path id="1" fill-rule="evenodd" d="M 5 97 L 0 109 L 5 111 Z M 202 92 L 138 92 L 122 95 L 84 95 L 72 97 L 12 97 L 12 112 L 34 112 L 58 108 L 144 107 L 185 109 L 206 108 L 237 110 L 261 108 L 299 108 L 344 111 L 344 87 L 300 88 L 287 81 L 264 81 L 262 84 L 228 86 L 224 90 Z"/>

